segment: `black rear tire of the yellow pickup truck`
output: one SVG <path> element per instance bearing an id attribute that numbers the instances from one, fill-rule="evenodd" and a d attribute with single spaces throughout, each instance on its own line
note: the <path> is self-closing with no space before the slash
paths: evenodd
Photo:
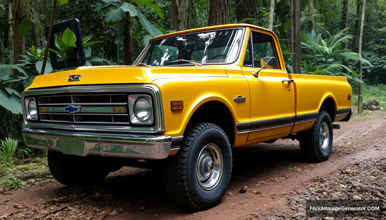
<path id="1" fill-rule="evenodd" d="M 324 139 L 323 131 L 327 130 L 326 128 L 328 128 L 328 134 L 327 138 Z M 332 150 L 333 132 L 332 120 L 326 111 L 320 110 L 312 128 L 302 131 L 298 135 L 300 151 L 305 160 L 319 163 L 328 159 Z M 325 140 L 328 142 L 325 143 Z"/>

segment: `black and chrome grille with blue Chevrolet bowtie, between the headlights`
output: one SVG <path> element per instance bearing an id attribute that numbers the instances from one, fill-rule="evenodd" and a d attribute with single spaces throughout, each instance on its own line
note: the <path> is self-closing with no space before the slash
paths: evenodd
<path id="1" fill-rule="evenodd" d="M 39 118 L 41 122 L 129 124 L 127 97 L 127 94 L 39 96 Z M 116 112 L 116 108 L 120 111 Z"/>

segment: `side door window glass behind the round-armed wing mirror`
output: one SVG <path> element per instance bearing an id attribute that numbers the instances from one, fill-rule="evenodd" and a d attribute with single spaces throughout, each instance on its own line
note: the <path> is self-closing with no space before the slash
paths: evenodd
<path id="1" fill-rule="evenodd" d="M 263 57 L 276 57 L 273 48 L 273 39 L 269 35 L 251 32 L 247 50 L 245 52 L 244 66 L 260 68 L 260 59 Z M 251 42 L 252 41 L 252 42 Z M 252 60 L 253 59 L 253 60 Z M 277 57 L 276 57 L 277 60 Z M 275 69 L 279 69 L 276 67 Z"/>

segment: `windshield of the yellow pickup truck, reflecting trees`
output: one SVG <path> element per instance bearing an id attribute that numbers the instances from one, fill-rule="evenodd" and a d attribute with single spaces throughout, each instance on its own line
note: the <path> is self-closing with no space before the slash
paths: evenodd
<path id="1" fill-rule="evenodd" d="M 213 30 L 156 40 L 149 44 L 135 64 L 194 65 L 173 62 L 180 59 L 200 64 L 232 63 L 239 55 L 242 32 L 242 29 Z"/>

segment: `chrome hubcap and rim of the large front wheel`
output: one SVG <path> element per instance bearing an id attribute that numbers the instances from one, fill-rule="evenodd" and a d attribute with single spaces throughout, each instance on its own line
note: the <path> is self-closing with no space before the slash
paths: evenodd
<path id="1" fill-rule="evenodd" d="M 216 144 L 207 144 L 200 152 L 196 164 L 197 179 L 202 188 L 217 186 L 222 174 L 222 155 Z"/>

